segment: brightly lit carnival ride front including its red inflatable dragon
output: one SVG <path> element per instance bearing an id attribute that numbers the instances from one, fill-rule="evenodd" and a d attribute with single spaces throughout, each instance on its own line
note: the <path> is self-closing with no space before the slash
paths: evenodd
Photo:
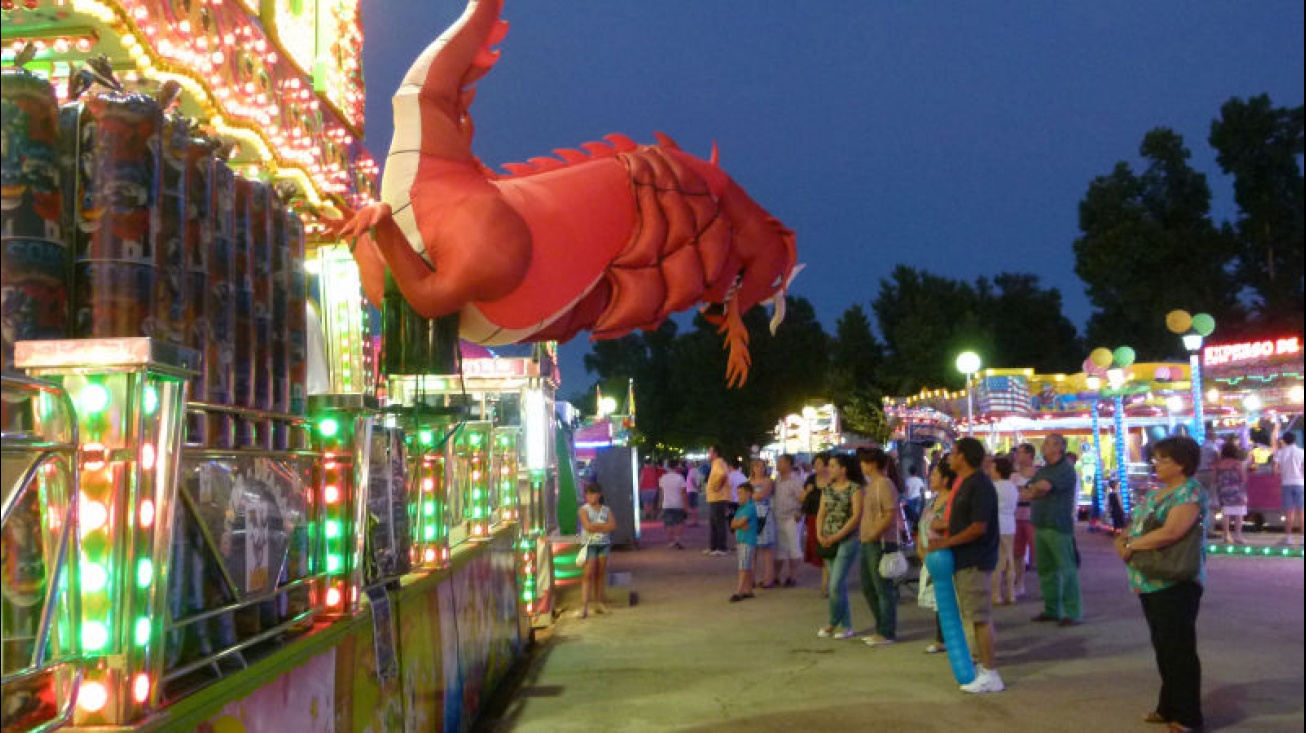
<path id="1" fill-rule="evenodd" d="M 793 234 L 666 140 L 469 159 L 499 9 L 377 192 L 357 0 L 0 3 L 5 730 L 466 729 L 552 611 L 551 340 L 704 299 L 746 376 Z"/>

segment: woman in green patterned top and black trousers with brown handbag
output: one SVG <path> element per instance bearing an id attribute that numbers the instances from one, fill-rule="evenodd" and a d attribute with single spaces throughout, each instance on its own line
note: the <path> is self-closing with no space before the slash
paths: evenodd
<path id="1" fill-rule="evenodd" d="M 1200 463 L 1202 447 L 1191 438 L 1158 440 L 1152 465 L 1161 487 L 1147 495 L 1130 530 L 1115 541 L 1161 672 L 1160 700 L 1144 720 L 1169 725 L 1171 733 L 1203 724 L 1198 609 L 1205 583 L 1207 493 L 1194 478 Z"/>

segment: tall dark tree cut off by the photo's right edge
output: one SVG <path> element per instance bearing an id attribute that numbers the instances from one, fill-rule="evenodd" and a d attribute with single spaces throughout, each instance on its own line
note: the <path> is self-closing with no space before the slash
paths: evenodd
<path id="1" fill-rule="evenodd" d="M 1238 281 L 1254 293 L 1266 331 L 1302 331 L 1303 135 L 1302 107 L 1276 108 L 1266 94 L 1225 102 L 1211 123 L 1211 146 L 1234 179 L 1239 208 Z"/>

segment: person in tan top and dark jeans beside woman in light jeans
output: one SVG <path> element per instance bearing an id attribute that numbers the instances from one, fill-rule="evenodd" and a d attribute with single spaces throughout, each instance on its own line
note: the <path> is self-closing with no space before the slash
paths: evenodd
<path id="1" fill-rule="evenodd" d="M 897 584 L 880 574 L 880 558 L 899 551 L 902 537 L 902 510 L 899 490 L 889 478 L 892 459 L 882 448 L 857 452 L 866 476 L 862 500 L 862 596 L 875 617 L 875 634 L 865 639 L 868 647 L 897 640 Z"/>

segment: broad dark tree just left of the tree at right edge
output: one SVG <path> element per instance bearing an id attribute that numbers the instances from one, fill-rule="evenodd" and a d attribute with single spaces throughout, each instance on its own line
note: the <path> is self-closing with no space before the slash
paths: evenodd
<path id="1" fill-rule="evenodd" d="M 1188 165 L 1191 153 L 1171 129 L 1156 128 L 1140 146 L 1141 175 L 1119 162 L 1093 179 L 1079 205 L 1075 273 L 1096 311 L 1089 346 L 1127 344 L 1144 358 L 1178 350 L 1165 328 L 1174 308 L 1241 323 L 1232 231 L 1211 221 L 1211 188 Z"/>

